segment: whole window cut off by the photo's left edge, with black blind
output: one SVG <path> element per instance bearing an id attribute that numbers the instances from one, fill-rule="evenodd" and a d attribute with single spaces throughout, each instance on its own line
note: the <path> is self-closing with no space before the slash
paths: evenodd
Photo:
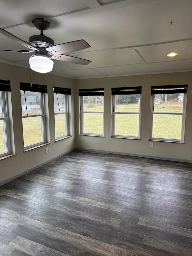
<path id="1" fill-rule="evenodd" d="M 10 92 L 10 81 L 0 80 L 0 157 L 11 153 L 7 92 Z"/>

